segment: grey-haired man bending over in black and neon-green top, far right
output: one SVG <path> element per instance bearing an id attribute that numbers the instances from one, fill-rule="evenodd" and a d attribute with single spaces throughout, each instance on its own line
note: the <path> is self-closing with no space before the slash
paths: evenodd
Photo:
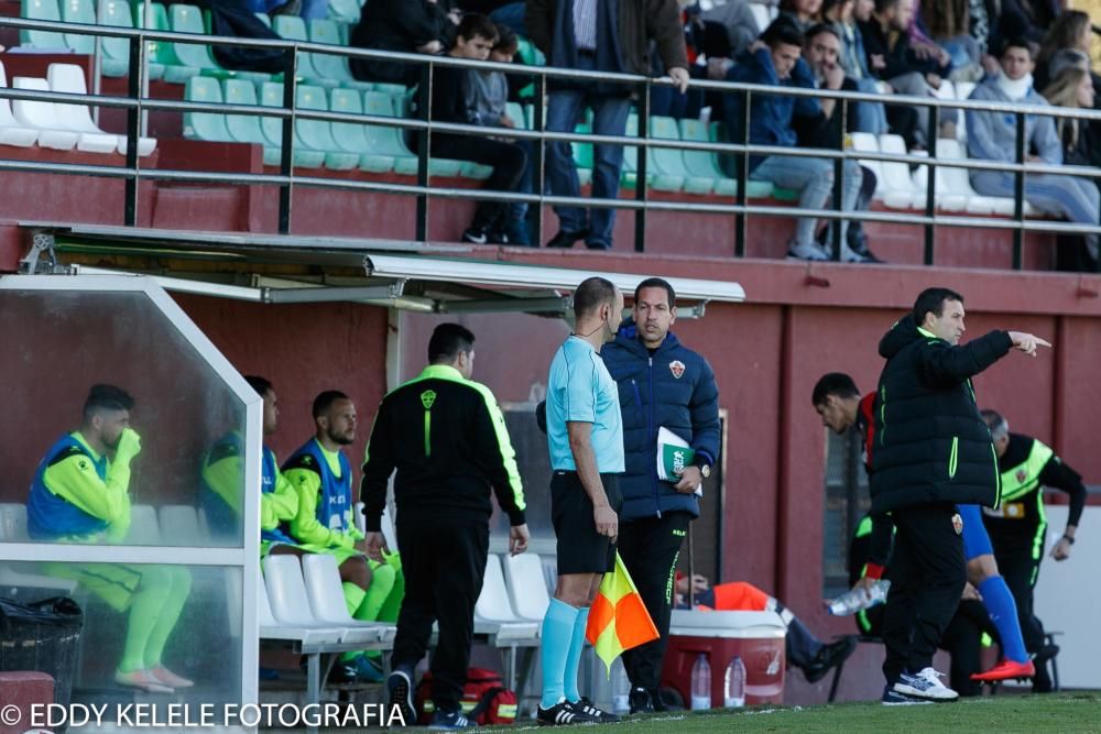
<path id="1" fill-rule="evenodd" d="M 994 410 L 983 410 L 990 437 L 998 452 L 998 470 L 1002 473 L 1002 504 L 983 511 L 983 524 L 994 546 L 998 568 L 1013 591 L 1025 648 L 1036 654 L 1036 677 L 1033 690 L 1051 690 L 1047 667 L 1042 665 L 1055 649 L 1045 649 L 1044 625 L 1033 613 L 1033 590 L 1044 560 L 1044 536 L 1047 515 L 1044 512 L 1044 487 L 1061 490 L 1070 495 L 1067 529 L 1051 548 L 1051 558 L 1070 558 L 1075 532 L 1086 506 L 1086 485 L 1073 469 L 1062 462 L 1043 441 L 1022 434 L 1011 434 L 1010 423 Z"/>

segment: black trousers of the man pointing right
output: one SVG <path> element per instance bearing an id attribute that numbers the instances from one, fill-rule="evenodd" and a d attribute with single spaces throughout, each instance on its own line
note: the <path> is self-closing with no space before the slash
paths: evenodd
<path id="1" fill-rule="evenodd" d="M 883 611 L 889 686 L 903 670 L 918 672 L 956 613 L 967 583 L 963 540 L 952 525 L 956 505 L 923 505 L 891 513 L 895 524 L 891 592 Z"/>

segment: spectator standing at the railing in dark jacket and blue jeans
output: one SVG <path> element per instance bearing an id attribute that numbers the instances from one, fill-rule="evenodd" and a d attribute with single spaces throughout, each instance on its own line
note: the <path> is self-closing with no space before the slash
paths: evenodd
<path id="1" fill-rule="evenodd" d="M 612 9 L 619 8 L 613 15 Z M 527 30 L 550 66 L 589 72 L 650 74 L 650 45 L 656 45 L 676 88 L 688 89 L 688 56 L 680 11 L 675 0 L 600 2 L 598 0 L 527 0 Z M 615 50 L 619 53 L 614 53 Z M 546 129 L 573 132 L 588 106 L 592 133 L 622 135 L 626 130 L 632 89 L 619 84 L 550 80 Z M 566 142 L 549 142 L 547 176 L 555 196 L 580 196 L 577 165 Z M 592 197 L 619 197 L 622 145 L 593 145 Z M 550 248 L 571 248 L 578 240 L 592 250 L 612 247 L 615 210 L 555 207 L 558 233 Z"/>

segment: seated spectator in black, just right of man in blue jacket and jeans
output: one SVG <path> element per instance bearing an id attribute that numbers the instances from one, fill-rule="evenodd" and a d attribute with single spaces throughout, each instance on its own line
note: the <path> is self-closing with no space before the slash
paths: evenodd
<path id="1" fill-rule="evenodd" d="M 857 83 L 844 75 L 844 69 L 838 63 L 841 39 L 832 25 L 819 23 L 813 26 L 806 35 L 806 46 L 803 57 L 814 75 L 813 78 L 800 78 L 800 86 L 819 89 L 844 89 L 857 91 Z M 846 129 L 841 129 L 841 103 L 836 99 L 821 99 L 817 114 L 796 114 L 793 120 L 799 147 L 838 149 L 844 146 L 846 134 L 857 130 L 857 116 L 846 117 Z M 875 194 L 875 174 L 861 165 L 854 166 L 861 175 L 860 196 L 857 199 L 857 210 L 865 211 Z M 831 227 L 832 224 L 830 224 Z M 824 229 L 822 238 L 829 232 Z M 849 249 L 862 255 L 868 262 L 882 262 L 868 249 L 863 223 L 858 219 L 849 222 Z"/>

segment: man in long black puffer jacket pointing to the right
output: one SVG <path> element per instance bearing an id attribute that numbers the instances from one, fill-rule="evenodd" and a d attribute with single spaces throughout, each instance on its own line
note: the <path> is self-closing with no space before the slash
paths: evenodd
<path id="1" fill-rule="evenodd" d="M 883 620 L 889 704 L 958 698 L 933 668 L 967 582 L 956 504 L 1000 501 L 996 457 L 971 377 L 1011 348 L 1035 357 L 1037 347 L 1050 347 L 1020 331 L 991 331 L 961 347 L 963 331 L 963 296 L 927 288 L 880 341 L 887 362 L 877 390 L 871 512 L 890 512 L 896 528 Z"/>

